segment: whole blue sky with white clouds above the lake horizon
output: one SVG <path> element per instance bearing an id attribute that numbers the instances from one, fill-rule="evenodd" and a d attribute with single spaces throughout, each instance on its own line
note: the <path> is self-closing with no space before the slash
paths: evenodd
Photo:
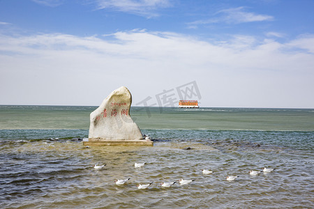
<path id="1" fill-rule="evenodd" d="M 0 0 L 0 104 L 314 108 L 313 0 Z"/>

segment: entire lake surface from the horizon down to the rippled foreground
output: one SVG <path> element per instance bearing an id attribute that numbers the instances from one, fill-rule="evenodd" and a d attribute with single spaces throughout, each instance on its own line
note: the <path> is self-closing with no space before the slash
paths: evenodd
<path id="1" fill-rule="evenodd" d="M 84 148 L 94 109 L 0 106 L 0 208 L 314 208 L 314 109 L 133 107 L 153 147 Z"/>

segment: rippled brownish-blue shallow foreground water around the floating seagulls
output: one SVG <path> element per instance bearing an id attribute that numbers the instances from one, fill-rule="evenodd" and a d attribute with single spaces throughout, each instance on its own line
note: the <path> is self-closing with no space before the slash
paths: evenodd
<path id="1" fill-rule="evenodd" d="M 35 130 L 33 130 L 35 131 Z M 1 208 L 313 208 L 313 132 L 144 130 L 153 147 L 84 148 L 79 139 L 1 142 Z M 36 131 L 35 131 L 36 132 Z M 268 140 L 251 140 L 252 137 Z M 297 139 L 298 141 L 299 139 Z M 293 142 L 293 140 L 291 140 Z M 294 141 L 294 144 L 297 143 Z M 190 147 L 190 150 L 183 148 Z M 147 162 L 135 169 L 135 162 Z M 92 164 L 107 164 L 95 170 Z M 251 169 L 276 170 L 250 176 Z M 203 175 L 202 169 L 214 173 Z M 234 182 L 227 175 L 239 175 Z M 126 185 L 116 178 L 130 178 Z M 163 181 L 195 179 L 160 187 Z M 137 183 L 154 183 L 137 189 Z"/>

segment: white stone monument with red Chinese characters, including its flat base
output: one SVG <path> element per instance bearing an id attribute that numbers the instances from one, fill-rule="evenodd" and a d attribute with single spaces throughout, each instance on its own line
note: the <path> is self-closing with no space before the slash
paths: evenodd
<path id="1" fill-rule="evenodd" d="M 89 139 L 85 146 L 110 145 L 153 145 L 144 139 L 140 128 L 130 117 L 132 95 L 128 88 L 121 86 L 103 100 L 91 113 Z"/>

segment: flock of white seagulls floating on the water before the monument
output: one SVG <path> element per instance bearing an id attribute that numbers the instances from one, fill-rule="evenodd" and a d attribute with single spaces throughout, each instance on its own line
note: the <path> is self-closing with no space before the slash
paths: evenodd
<path id="1" fill-rule="evenodd" d="M 137 163 L 135 162 L 134 164 L 134 167 L 135 168 L 140 168 L 140 167 L 144 167 L 144 165 L 147 164 L 146 162 L 144 163 Z M 103 164 L 103 165 L 96 165 L 94 164 L 93 167 L 94 169 L 103 169 L 103 167 L 105 167 L 106 164 Z M 248 173 L 251 175 L 251 176 L 257 176 L 258 174 L 260 173 L 270 173 L 271 171 L 274 171 L 275 169 L 269 169 L 269 168 L 266 168 L 264 167 L 264 169 L 262 171 L 254 171 L 254 170 L 251 170 L 249 171 Z M 211 171 L 211 170 L 206 170 L 206 169 L 203 169 L 202 170 L 202 173 L 205 174 L 205 175 L 208 175 L 208 174 L 211 174 L 211 173 L 214 173 L 214 171 Z M 227 181 L 232 181 L 232 180 L 236 180 L 237 178 L 239 178 L 239 176 L 227 176 L 225 179 Z M 130 178 L 126 178 L 126 179 L 117 179 L 115 180 L 114 182 L 116 183 L 116 185 L 124 185 L 125 183 L 128 182 L 128 180 L 130 180 Z M 193 180 L 184 180 L 183 178 L 181 178 L 179 180 L 179 184 L 180 185 L 187 185 L 188 183 L 191 183 L 195 181 L 195 179 Z M 152 183 L 154 182 L 151 182 L 149 184 L 145 184 L 145 185 L 142 185 L 142 184 L 138 184 L 136 185 L 137 186 L 137 189 L 147 189 Z M 163 182 L 161 183 L 161 187 L 171 187 L 172 185 L 174 185 L 175 183 L 177 183 L 177 181 L 172 181 L 172 182 Z"/>

